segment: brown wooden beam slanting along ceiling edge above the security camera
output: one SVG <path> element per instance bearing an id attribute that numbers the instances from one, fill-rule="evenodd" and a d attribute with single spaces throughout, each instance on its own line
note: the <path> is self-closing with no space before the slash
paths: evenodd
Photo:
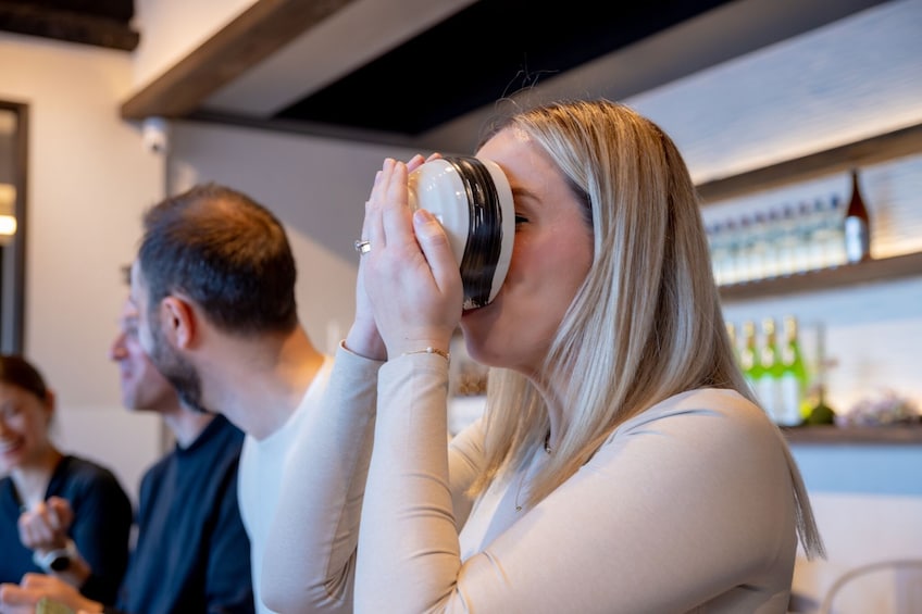
<path id="1" fill-rule="evenodd" d="M 122 104 L 122 117 L 183 117 L 224 85 L 354 0 L 259 0 Z"/>

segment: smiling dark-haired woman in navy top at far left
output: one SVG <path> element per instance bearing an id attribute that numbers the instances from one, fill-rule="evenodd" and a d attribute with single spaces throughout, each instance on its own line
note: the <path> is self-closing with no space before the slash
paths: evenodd
<path id="1" fill-rule="evenodd" d="M 53 415 L 38 369 L 0 355 L 0 582 L 47 573 L 109 601 L 128 562 L 132 502 L 111 471 L 52 443 Z"/>

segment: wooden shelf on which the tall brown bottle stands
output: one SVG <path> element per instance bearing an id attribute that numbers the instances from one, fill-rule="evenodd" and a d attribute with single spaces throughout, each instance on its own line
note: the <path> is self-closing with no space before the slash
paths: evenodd
<path id="1" fill-rule="evenodd" d="M 736 301 L 798 292 L 815 292 L 817 290 L 844 288 L 857 284 L 871 284 L 919 275 L 922 275 L 922 252 L 811 271 L 788 277 L 721 286 L 720 292 L 724 301 Z"/>

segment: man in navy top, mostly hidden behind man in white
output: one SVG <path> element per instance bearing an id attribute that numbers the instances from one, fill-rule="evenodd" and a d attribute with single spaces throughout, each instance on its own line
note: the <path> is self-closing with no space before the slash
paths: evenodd
<path id="1" fill-rule="evenodd" d="M 137 309 L 126 301 L 110 350 L 122 403 L 163 416 L 174 449 L 141 478 L 138 539 L 117 599 L 91 601 L 48 576 L 0 587 L 0 606 L 28 611 L 41 598 L 74 611 L 136 614 L 251 614 L 250 542 L 237 506 L 244 434 L 220 415 L 182 404 L 137 339 Z M 5 610 L 4 610 L 5 612 Z"/>

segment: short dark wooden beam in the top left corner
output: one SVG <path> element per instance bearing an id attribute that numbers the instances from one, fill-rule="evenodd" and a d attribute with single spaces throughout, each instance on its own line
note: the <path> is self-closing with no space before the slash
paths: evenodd
<path id="1" fill-rule="evenodd" d="M 0 1 L 0 30 L 133 51 L 140 35 L 122 21 L 30 2 Z"/>

